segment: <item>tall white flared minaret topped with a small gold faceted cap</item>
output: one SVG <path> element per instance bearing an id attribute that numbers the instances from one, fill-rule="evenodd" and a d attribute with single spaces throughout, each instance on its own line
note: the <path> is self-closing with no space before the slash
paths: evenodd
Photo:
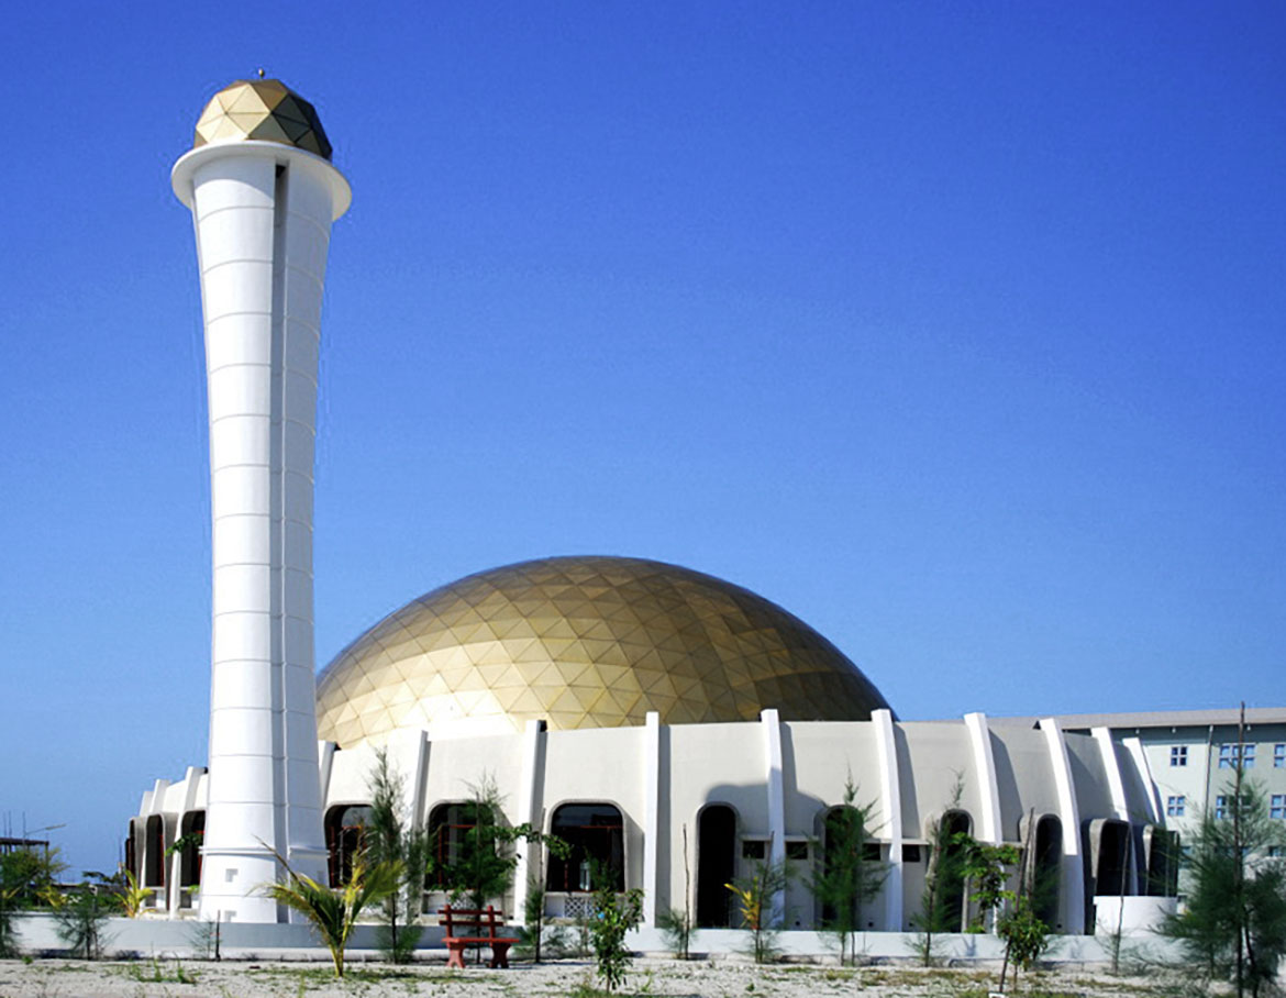
<path id="1" fill-rule="evenodd" d="M 276 857 L 325 882 L 312 652 L 322 287 L 349 184 L 276 80 L 221 90 L 174 167 L 197 228 L 210 400 L 213 639 L 201 917 L 279 922 Z"/>

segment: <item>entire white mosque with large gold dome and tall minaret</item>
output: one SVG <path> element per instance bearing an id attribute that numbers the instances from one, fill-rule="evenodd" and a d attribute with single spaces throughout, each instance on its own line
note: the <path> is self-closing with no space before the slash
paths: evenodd
<path id="1" fill-rule="evenodd" d="M 276 857 L 340 884 L 377 747 L 445 857 L 484 782 L 504 822 L 571 845 L 567 858 L 521 850 L 496 899 L 507 913 L 541 885 L 548 917 L 585 914 L 601 864 L 644 890 L 646 925 L 687 903 L 698 926 L 736 927 L 724 885 L 769 860 L 796 875 L 775 899 L 783 925 L 815 927 L 808 873 L 850 785 L 886 873 L 863 909 L 869 930 L 913 926 L 935 827 L 1020 846 L 1026 871 L 1056 885 L 1040 914 L 1058 932 L 1093 931 L 1106 898 L 1174 894 L 1139 737 L 1056 718 L 900 720 L 802 620 L 675 565 L 481 571 L 394 610 L 314 684 L 320 292 L 350 198 L 329 153 L 315 109 L 260 78 L 210 102 L 174 171 L 202 280 L 213 642 L 208 765 L 157 779 L 129 822 L 126 862 L 156 889 L 156 914 L 283 921 L 257 893 Z M 426 882 L 423 911 L 444 902 Z M 953 903 L 963 925 L 967 894 Z"/>

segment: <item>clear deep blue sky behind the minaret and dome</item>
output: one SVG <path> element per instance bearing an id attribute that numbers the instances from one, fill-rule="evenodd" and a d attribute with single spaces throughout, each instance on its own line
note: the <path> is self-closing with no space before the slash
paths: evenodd
<path id="1" fill-rule="evenodd" d="M 1286 14 L 30 4 L 0 41 L 0 818 L 114 863 L 204 761 L 168 171 L 262 66 L 333 234 L 318 665 L 523 558 L 746 585 L 904 718 L 1278 706 Z"/>

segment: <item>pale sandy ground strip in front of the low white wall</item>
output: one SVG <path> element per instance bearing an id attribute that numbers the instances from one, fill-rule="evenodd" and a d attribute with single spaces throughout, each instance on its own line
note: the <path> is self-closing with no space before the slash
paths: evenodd
<path id="1" fill-rule="evenodd" d="M 471 967 L 448 971 L 441 963 L 394 967 L 352 963 L 343 981 L 329 965 L 240 963 L 224 961 L 0 961 L 0 998 L 395 998 L 399 995 L 538 995 L 590 998 L 597 985 L 588 961 L 511 970 Z M 817 965 L 755 967 L 736 961 L 635 959 L 625 986 L 635 995 L 700 998 L 827 998 L 860 992 L 869 998 L 986 998 L 997 972 L 918 967 L 838 968 Z M 1179 981 L 1150 974 L 1114 977 L 1088 971 L 1044 971 L 1022 980 L 1019 995 L 1040 998 L 1124 998 L 1191 994 Z"/>

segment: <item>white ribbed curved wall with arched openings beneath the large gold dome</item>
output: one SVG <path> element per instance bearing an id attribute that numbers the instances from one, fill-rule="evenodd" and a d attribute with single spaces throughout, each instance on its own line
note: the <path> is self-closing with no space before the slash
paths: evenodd
<path id="1" fill-rule="evenodd" d="M 871 859 L 886 871 L 880 896 L 865 905 L 869 931 L 916 925 L 936 822 L 984 842 L 1024 850 L 1029 875 L 1057 884 L 1042 914 L 1058 932 L 1093 931 L 1096 899 L 1152 904 L 1173 895 L 1174 854 L 1146 758 L 1094 734 L 990 721 L 896 721 L 887 710 L 867 721 L 784 721 L 765 710 L 757 721 L 661 724 L 656 712 L 630 728 L 549 730 L 539 720 L 521 733 L 435 741 L 399 730 L 382 739 L 405 778 L 406 814 L 451 849 L 460 808 L 472 787 L 494 782 L 502 819 L 530 822 L 574 844 L 570 860 L 520 846 L 513 887 L 494 902 L 522 912 L 526 885 L 538 876 L 550 918 L 575 918 L 590 904 L 590 859 L 642 887 L 646 923 L 683 908 L 703 927 L 737 927 L 724 885 L 760 859 L 781 859 L 792 877 L 778 911 L 788 929 L 814 929 L 822 909 L 808 889 L 826 862 L 827 814 L 845 786 L 871 805 Z M 323 743 L 332 884 L 345 876 L 345 851 L 370 801 L 373 743 L 338 750 Z M 179 851 L 158 871 L 172 836 L 204 804 L 208 777 L 158 782 L 131 823 L 140 872 L 158 887 L 157 907 L 171 917 L 189 904 L 195 851 Z M 446 895 L 426 882 L 423 911 Z M 968 900 L 959 900 L 963 926 Z"/>

